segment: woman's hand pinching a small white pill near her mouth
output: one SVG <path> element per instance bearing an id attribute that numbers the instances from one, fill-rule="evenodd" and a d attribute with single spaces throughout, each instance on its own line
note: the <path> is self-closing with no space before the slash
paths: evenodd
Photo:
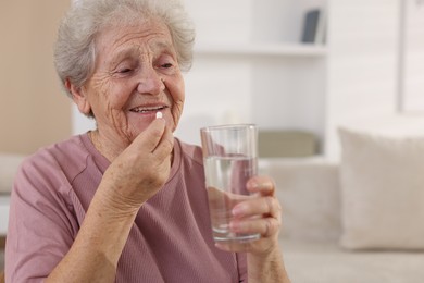
<path id="1" fill-rule="evenodd" d="M 165 120 L 153 120 L 104 172 L 99 187 L 104 200 L 123 212 L 138 210 L 167 181 L 173 146 Z"/>

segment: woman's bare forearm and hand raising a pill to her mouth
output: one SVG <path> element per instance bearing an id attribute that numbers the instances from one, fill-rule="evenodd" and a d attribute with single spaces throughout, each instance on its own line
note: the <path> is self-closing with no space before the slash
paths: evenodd
<path id="1" fill-rule="evenodd" d="M 113 160 L 74 244 L 46 282 L 115 280 L 119 259 L 140 206 L 169 179 L 173 144 L 165 121 L 157 119 Z"/>

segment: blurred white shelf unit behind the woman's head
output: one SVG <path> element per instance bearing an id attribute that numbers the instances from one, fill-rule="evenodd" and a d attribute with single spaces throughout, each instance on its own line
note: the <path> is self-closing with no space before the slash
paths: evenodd
<path id="1" fill-rule="evenodd" d="M 197 27 L 177 136 L 199 144 L 207 124 L 255 123 L 319 136 L 324 45 L 301 44 L 304 12 L 325 0 L 186 0 Z"/>

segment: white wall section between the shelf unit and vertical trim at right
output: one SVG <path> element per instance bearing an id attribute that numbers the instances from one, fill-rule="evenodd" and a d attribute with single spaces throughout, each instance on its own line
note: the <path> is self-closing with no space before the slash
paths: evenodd
<path id="1" fill-rule="evenodd" d="M 399 1 L 335 0 L 329 5 L 326 153 L 338 155 L 337 127 L 363 125 L 397 110 Z"/>

